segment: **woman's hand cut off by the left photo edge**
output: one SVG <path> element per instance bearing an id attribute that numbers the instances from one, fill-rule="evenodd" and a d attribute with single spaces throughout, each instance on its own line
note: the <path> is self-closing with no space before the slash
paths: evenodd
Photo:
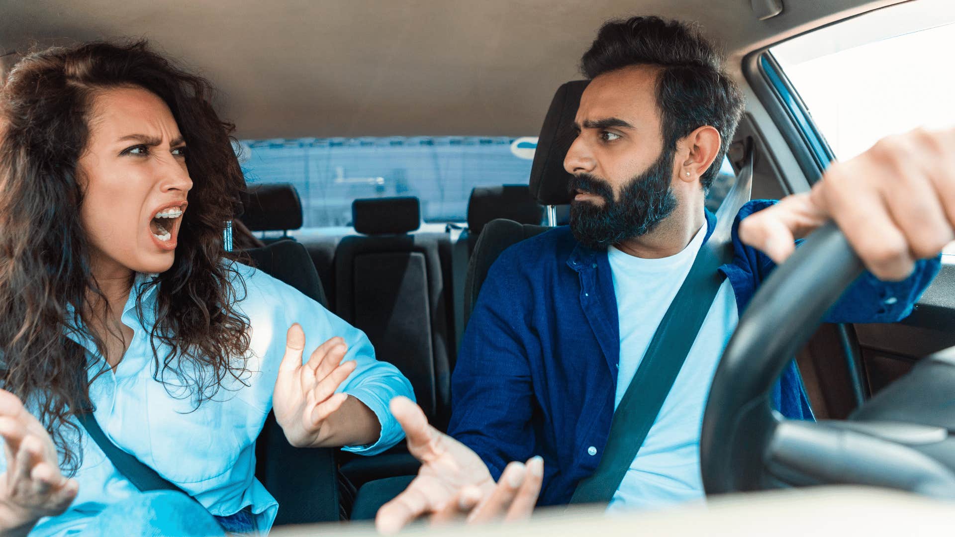
<path id="1" fill-rule="evenodd" d="M 79 486 L 63 477 L 53 440 L 20 399 L 0 390 L 0 437 L 7 472 L 0 474 L 0 532 L 26 535 L 41 517 L 73 503 Z"/>

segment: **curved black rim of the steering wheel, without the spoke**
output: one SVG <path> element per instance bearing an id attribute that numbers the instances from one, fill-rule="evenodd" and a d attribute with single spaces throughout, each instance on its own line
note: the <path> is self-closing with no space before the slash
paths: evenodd
<path id="1" fill-rule="evenodd" d="M 770 393 L 822 316 L 862 272 L 838 227 L 820 227 L 763 283 L 713 376 L 700 439 L 707 494 L 776 488 L 765 454 L 781 416 Z"/>

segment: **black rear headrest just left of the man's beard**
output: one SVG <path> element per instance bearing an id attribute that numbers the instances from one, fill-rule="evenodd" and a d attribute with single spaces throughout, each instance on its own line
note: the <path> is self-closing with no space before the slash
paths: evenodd
<path id="1" fill-rule="evenodd" d="M 476 186 L 468 200 L 468 229 L 477 235 L 484 225 L 496 218 L 520 224 L 541 224 L 543 207 L 531 198 L 526 184 Z"/>

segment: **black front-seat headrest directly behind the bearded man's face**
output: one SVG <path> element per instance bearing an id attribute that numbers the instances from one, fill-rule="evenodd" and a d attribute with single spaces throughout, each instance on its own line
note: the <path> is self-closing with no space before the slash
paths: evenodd
<path id="1" fill-rule="evenodd" d="M 572 199 L 567 191 L 571 176 L 563 169 L 563 158 L 574 141 L 574 117 L 589 83 L 589 80 L 574 80 L 563 84 L 543 118 L 530 183 L 531 195 L 541 204 L 569 204 Z"/>

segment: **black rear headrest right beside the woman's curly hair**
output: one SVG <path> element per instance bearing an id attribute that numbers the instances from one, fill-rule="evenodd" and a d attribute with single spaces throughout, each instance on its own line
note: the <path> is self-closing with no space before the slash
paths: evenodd
<path id="1" fill-rule="evenodd" d="M 242 220 L 249 231 L 302 227 L 302 200 L 291 183 L 253 184 L 242 196 Z"/>

